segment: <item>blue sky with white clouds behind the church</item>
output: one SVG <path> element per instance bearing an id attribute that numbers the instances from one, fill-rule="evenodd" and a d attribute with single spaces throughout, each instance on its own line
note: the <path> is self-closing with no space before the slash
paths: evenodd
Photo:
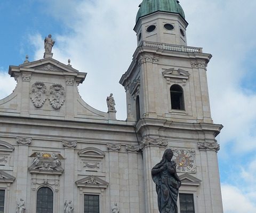
<path id="1" fill-rule="evenodd" d="M 83 99 L 107 111 L 114 94 L 117 118 L 125 119 L 125 93 L 118 84 L 136 48 L 133 32 L 141 0 L 0 1 L 0 99 L 15 82 L 10 64 L 43 58 L 43 39 L 56 40 L 53 58 L 71 59 L 87 72 Z M 225 213 L 256 212 L 256 28 L 255 0 L 180 0 L 189 46 L 213 54 L 207 67 L 212 118 L 223 124 L 218 153 Z M 100 86 L 99 86 L 100 85 Z M 234 203 L 239 199 L 241 202 Z"/>

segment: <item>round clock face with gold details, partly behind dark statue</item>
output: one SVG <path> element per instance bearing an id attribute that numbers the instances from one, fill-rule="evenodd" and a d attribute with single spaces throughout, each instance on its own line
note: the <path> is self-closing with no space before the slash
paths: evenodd
<path id="1" fill-rule="evenodd" d="M 177 163 L 177 170 L 181 173 L 187 173 L 194 167 L 194 154 L 192 154 L 188 150 L 178 149 L 173 151 L 172 159 Z"/>

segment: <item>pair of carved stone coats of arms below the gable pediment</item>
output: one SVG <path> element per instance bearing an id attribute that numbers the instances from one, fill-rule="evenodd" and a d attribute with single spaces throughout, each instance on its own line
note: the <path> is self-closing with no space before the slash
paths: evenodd
<path id="1" fill-rule="evenodd" d="M 37 81 L 31 86 L 30 99 L 36 108 L 41 108 L 48 98 L 55 110 L 61 108 L 65 102 L 65 89 L 61 84 L 53 84 L 47 91 L 43 82 Z"/>

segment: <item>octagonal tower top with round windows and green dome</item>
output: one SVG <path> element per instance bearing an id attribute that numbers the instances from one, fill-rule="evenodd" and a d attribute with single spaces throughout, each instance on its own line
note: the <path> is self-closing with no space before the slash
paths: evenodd
<path id="1" fill-rule="evenodd" d="M 138 46 L 144 41 L 187 45 L 185 13 L 177 0 L 143 0 L 134 31 Z"/>

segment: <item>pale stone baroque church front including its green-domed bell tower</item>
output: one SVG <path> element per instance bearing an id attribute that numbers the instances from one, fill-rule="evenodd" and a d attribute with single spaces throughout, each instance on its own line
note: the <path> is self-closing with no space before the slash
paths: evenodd
<path id="1" fill-rule="evenodd" d="M 157 213 L 151 169 L 166 149 L 181 179 L 179 213 L 221 213 L 206 66 L 211 54 L 187 46 L 176 0 L 143 0 L 138 47 L 121 77 L 127 119 L 82 100 L 86 73 L 52 58 L 10 66 L 17 81 L 0 100 L 0 212 Z M 48 46 L 47 46 L 48 45 Z"/>

